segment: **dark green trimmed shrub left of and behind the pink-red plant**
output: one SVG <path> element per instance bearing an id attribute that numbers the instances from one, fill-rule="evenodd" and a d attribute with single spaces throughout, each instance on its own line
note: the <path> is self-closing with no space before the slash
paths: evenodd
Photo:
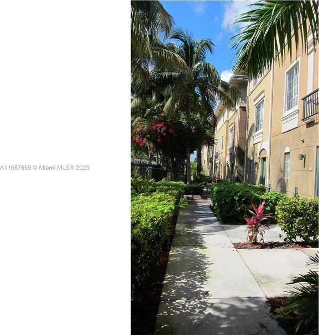
<path id="1" fill-rule="evenodd" d="M 251 204 L 260 203 L 266 192 L 265 185 L 223 181 L 211 186 L 211 200 L 221 223 L 244 223 Z"/>

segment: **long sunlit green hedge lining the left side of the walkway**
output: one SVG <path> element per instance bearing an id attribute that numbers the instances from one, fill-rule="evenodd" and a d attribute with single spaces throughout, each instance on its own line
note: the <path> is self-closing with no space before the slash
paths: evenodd
<path id="1" fill-rule="evenodd" d="M 160 252 L 168 247 L 175 197 L 155 192 L 131 200 L 132 294 L 143 283 Z"/>

